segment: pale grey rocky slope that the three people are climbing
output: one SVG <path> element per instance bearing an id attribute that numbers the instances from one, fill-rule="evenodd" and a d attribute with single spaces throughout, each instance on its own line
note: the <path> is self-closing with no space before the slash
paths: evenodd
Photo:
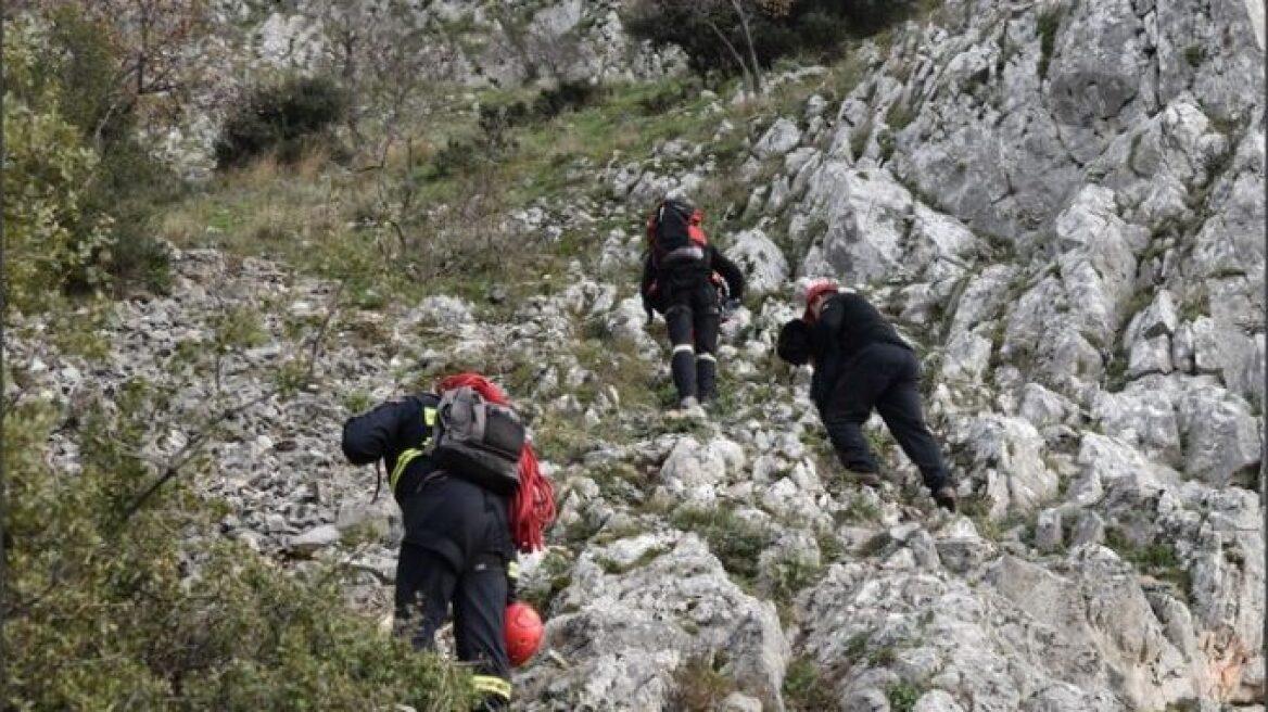
<path id="1" fill-rule="evenodd" d="M 747 146 L 752 227 L 716 237 L 761 298 L 727 324 L 711 422 L 639 393 L 666 376 L 633 295 L 637 215 L 718 179 L 709 146 L 667 142 L 593 176 L 588 217 L 628 227 L 539 296 L 340 308 L 322 388 L 216 432 L 199 481 L 232 503 L 221 531 L 350 559 L 382 607 L 398 523 L 340 462 L 339 424 L 478 364 L 531 404 L 560 493 L 526 563 L 550 621 L 519 708 L 673 708 L 709 683 L 724 709 L 1263 709 L 1262 38 L 1262 9 L 1231 0 L 945 3 L 865 46 L 848 95 Z M 152 454 L 179 452 L 306 362 L 337 289 L 210 251 L 176 266 L 172 296 L 103 326 L 105 359 L 34 322 L 6 359 L 68 409 L 169 384 L 156 422 L 189 426 Z M 841 481 L 806 374 L 772 355 L 819 275 L 921 346 L 965 513 L 933 511 L 894 447 L 883 490 Z M 74 469 L 74 429 L 52 456 Z"/>

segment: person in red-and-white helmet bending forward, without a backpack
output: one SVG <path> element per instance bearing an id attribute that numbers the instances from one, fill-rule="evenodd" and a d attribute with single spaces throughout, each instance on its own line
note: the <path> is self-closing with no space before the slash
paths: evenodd
<path id="1" fill-rule="evenodd" d="M 780 329 L 776 353 L 790 364 L 814 364 L 810 400 L 837 457 L 858 481 L 880 484 L 862 432 L 875 408 L 921 469 L 933 499 L 955 512 L 955 486 L 921 412 L 915 353 L 875 307 L 834 281 L 815 283 L 806 290 L 801 318 Z"/>

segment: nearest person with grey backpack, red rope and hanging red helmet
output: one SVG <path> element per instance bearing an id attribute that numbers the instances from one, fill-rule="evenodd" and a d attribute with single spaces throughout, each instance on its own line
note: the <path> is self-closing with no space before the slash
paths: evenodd
<path id="1" fill-rule="evenodd" d="M 456 652 L 473 666 L 477 708 L 506 708 L 511 666 L 541 639 L 540 618 L 515 601 L 516 551 L 541 549 L 554 519 L 553 488 L 506 394 L 479 374 L 449 376 L 435 393 L 349 419 L 342 446 L 353 464 L 384 460 L 401 505 L 397 633 L 416 650 L 432 650 L 453 606 Z"/>

